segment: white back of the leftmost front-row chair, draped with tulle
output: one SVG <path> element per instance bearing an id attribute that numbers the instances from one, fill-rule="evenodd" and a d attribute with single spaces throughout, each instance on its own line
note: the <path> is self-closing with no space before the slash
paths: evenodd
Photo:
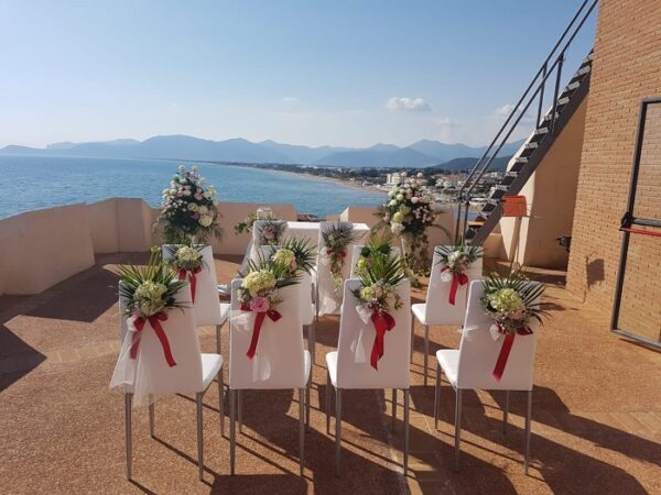
<path id="1" fill-rule="evenodd" d="M 167 394 L 202 392 L 202 356 L 191 289 L 187 286 L 183 287 L 175 299 L 182 307 L 170 309 L 167 320 L 160 322 L 176 362 L 175 366 L 170 366 L 163 353 L 163 345 L 149 322 L 144 323 L 140 332 L 137 359 L 130 359 L 132 332 L 129 332 L 128 318 L 123 314 L 126 300 L 122 300 L 120 295 L 122 351 L 111 385 L 123 383 L 127 392 L 134 394 L 137 405 L 147 404 L 150 395 L 155 398 Z"/>

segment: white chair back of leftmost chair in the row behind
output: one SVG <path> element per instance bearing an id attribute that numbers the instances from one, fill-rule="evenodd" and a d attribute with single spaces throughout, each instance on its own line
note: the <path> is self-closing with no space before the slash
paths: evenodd
<path id="1" fill-rule="evenodd" d="M 173 250 L 176 245 L 163 245 L 163 260 L 172 260 Z M 202 272 L 196 275 L 197 287 L 195 289 L 195 302 L 193 311 L 195 312 L 195 324 L 206 327 L 220 324 L 220 302 L 218 301 L 218 279 L 216 278 L 216 264 L 214 263 L 214 251 L 210 245 L 205 245 L 199 250 L 202 253 Z"/>

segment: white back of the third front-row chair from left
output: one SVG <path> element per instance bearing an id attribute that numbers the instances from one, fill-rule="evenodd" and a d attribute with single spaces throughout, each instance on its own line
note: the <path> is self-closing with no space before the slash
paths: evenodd
<path id="1" fill-rule="evenodd" d="M 394 328 L 386 332 L 383 356 L 378 371 L 370 364 L 376 331 L 371 321 L 362 322 L 356 311 L 357 299 L 351 290 L 360 280 L 349 278 L 344 285 L 344 304 L 339 320 L 337 345 L 337 386 L 339 388 L 409 388 L 411 349 L 411 283 L 403 279 L 397 287 L 403 302 L 392 309 Z M 358 351 L 358 352 L 356 352 Z"/>

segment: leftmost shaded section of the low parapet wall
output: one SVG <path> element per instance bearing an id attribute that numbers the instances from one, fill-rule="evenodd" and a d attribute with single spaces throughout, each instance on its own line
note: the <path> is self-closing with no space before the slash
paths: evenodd
<path id="1" fill-rule="evenodd" d="M 0 221 L 0 294 L 37 294 L 93 265 L 87 205 Z"/>

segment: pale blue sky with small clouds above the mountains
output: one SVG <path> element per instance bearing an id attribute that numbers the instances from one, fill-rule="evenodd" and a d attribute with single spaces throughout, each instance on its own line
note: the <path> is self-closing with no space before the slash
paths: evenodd
<path id="1" fill-rule="evenodd" d="M 485 144 L 578 4 L 0 0 L 0 146 L 163 134 Z"/>

